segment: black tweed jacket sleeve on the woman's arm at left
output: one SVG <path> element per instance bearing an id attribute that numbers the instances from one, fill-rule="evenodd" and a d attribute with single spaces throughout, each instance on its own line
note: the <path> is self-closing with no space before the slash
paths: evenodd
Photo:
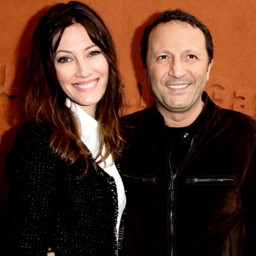
<path id="1" fill-rule="evenodd" d="M 9 255 L 46 255 L 53 228 L 56 162 L 49 151 L 47 133 L 30 126 L 17 132 L 5 173 L 9 185 Z"/>

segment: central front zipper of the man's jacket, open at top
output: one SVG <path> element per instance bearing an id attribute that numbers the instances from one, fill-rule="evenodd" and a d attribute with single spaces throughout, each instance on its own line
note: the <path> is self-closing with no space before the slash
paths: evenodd
<path id="1" fill-rule="evenodd" d="M 177 170 L 175 173 L 173 173 L 172 165 L 171 165 L 171 153 L 169 152 L 168 156 L 168 162 L 169 162 L 169 170 L 170 170 L 170 183 L 169 183 L 169 256 L 175 256 L 175 180 L 177 177 L 177 173 L 181 169 L 181 165 L 184 163 L 190 152 L 192 151 L 194 145 L 194 139 L 191 140 L 190 147 L 188 150 L 188 153 L 184 157 L 184 159 L 181 161 L 180 165 L 177 167 Z"/>

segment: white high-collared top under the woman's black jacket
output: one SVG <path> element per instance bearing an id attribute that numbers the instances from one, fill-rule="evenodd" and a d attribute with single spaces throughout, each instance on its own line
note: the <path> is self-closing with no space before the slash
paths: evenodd
<path id="1" fill-rule="evenodd" d="M 81 127 L 81 139 L 83 143 L 91 151 L 93 157 L 96 157 L 98 153 L 98 121 L 87 114 L 79 105 L 75 102 L 71 102 L 69 99 L 66 100 L 66 105 L 74 111 L 78 122 Z M 97 160 L 97 159 L 96 159 Z M 106 159 L 105 163 L 99 163 L 99 166 L 110 176 L 112 176 L 117 186 L 117 197 L 118 197 L 118 216 L 117 216 L 117 235 L 120 226 L 121 216 L 124 211 L 126 204 L 126 197 L 124 193 L 124 184 L 121 180 L 120 174 L 113 162 L 111 155 Z"/>

